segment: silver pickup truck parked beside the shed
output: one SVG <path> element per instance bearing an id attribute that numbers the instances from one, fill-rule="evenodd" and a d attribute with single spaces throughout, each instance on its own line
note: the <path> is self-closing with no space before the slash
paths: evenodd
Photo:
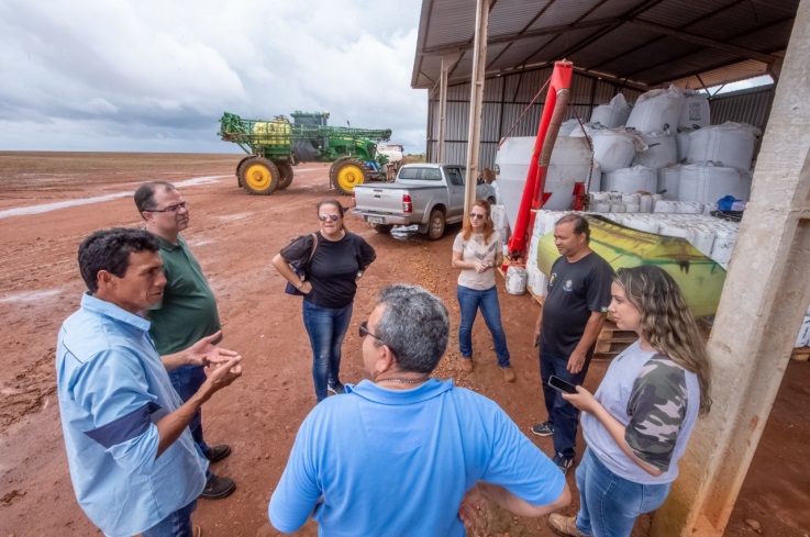
<path id="1" fill-rule="evenodd" d="M 464 219 L 466 168 L 445 164 L 407 164 L 392 183 L 358 184 L 352 191 L 353 213 L 378 233 L 395 225 L 419 225 L 420 233 L 437 240 L 444 226 Z M 495 189 L 476 187 L 476 198 L 495 203 Z"/>

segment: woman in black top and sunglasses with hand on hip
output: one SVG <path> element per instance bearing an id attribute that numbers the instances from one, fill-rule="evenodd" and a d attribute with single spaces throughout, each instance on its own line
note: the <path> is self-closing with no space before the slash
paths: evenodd
<path id="1" fill-rule="evenodd" d="M 320 202 L 318 219 L 321 230 L 292 240 L 273 258 L 273 265 L 304 295 L 303 325 L 312 345 L 312 379 L 320 403 L 328 392 L 345 392 L 340 380 L 343 337 L 352 320 L 357 281 L 377 256 L 368 243 L 346 230 L 337 201 Z M 290 264 L 306 267 L 304 278 Z"/>

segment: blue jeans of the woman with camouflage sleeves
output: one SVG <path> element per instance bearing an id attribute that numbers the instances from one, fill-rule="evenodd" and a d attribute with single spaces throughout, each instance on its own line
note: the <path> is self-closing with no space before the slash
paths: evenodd
<path id="1" fill-rule="evenodd" d="M 657 510 L 672 483 L 640 484 L 611 472 L 590 449 L 577 467 L 577 529 L 595 537 L 629 537 L 639 515 Z"/>

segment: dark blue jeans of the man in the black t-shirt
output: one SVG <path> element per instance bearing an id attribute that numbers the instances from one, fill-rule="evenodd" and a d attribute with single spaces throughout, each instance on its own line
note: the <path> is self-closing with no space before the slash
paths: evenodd
<path id="1" fill-rule="evenodd" d="M 545 410 L 548 413 L 548 422 L 554 425 L 554 450 L 568 458 L 576 455 L 574 447 L 577 441 L 579 411 L 564 400 L 557 390 L 548 385 L 548 377 L 553 374 L 572 384 L 579 385 L 585 382 L 591 356 L 592 354 L 588 353 L 581 371 L 570 373 L 566 369 L 568 367 L 568 356 L 554 355 L 547 345 L 540 344 L 540 379 L 543 383 L 543 399 Z"/>

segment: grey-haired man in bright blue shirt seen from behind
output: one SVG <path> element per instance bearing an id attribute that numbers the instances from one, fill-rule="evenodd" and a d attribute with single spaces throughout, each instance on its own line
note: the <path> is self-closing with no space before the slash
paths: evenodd
<path id="1" fill-rule="evenodd" d="M 463 536 L 490 500 L 522 516 L 570 502 L 565 477 L 492 401 L 430 377 L 450 320 L 422 288 L 392 286 L 359 326 L 370 380 L 304 419 L 273 497 L 273 526 L 319 535 Z"/>

